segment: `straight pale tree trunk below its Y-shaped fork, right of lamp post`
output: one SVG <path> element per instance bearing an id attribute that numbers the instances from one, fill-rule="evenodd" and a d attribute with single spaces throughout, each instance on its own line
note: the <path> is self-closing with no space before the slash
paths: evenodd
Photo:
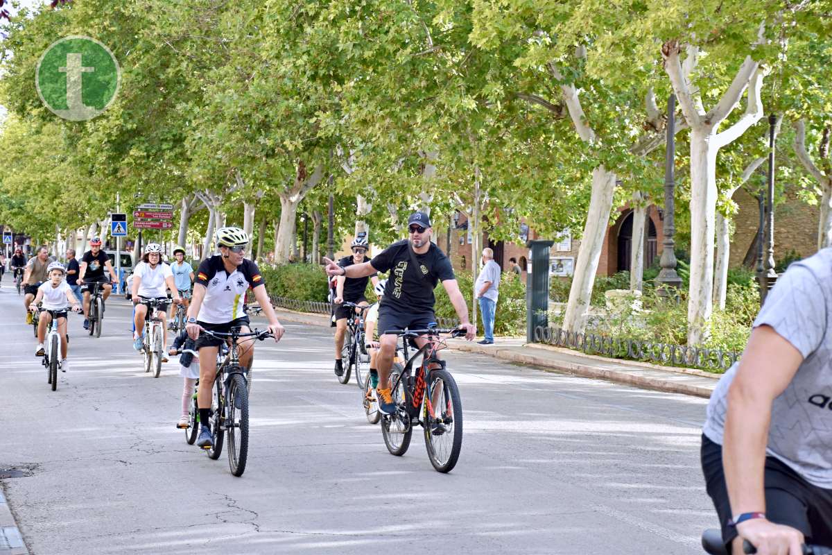
<path id="1" fill-rule="evenodd" d="M 700 345 L 709 334 L 713 311 L 716 154 L 710 130 L 691 130 L 691 284 L 687 301 L 687 344 Z"/>

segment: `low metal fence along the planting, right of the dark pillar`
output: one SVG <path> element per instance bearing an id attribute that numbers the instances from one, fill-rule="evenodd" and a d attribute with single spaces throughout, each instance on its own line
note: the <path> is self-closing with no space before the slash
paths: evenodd
<path id="1" fill-rule="evenodd" d="M 735 351 L 686 347 L 607 335 L 577 334 L 551 326 L 537 326 L 534 330 L 534 340 L 535 343 L 576 349 L 587 354 L 701 369 L 726 370 L 740 359 L 740 354 Z"/>

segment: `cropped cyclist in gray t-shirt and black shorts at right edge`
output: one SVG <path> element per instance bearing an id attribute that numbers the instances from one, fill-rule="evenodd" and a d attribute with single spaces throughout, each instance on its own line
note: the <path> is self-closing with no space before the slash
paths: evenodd
<path id="1" fill-rule="evenodd" d="M 745 353 L 720 379 L 702 470 L 733 553 L 832 546 L 832 249 L 777 280 Z"/>

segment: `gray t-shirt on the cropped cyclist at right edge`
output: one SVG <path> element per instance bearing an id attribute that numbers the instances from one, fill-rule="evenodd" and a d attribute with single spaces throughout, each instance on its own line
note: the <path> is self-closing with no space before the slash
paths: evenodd
<path id="1" fill-rule="evenodd" d="M 789 266 L 754 326 L 770 325 L 803 354 L 771 406 L 767 452 L 820 488 L 832 488 L 832 248 Z M 734 364 L 716 385 L 703 433 L 722 444 Z"/>

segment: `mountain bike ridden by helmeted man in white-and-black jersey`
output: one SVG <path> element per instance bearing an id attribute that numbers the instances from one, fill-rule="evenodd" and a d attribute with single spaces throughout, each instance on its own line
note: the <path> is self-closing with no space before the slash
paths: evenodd
<path id="1" fill-rule="evenodd" d="M 237 339 L 250 340 L 271 337 L 270 331 L 241 332 L 235 326 L 228 333 L 202 330 L 216 339 L 227 339 L 230 348 L 225 359 L 216 369 L 214 394 L 211 397 L 210 431 L 214 447 L 206 449 L 208 456 L 216 460 L 222 454 L 225 434 L 228 434 L 228 466 L 235 476 L 242 476 L 249 453 L 249 394 L 245 384 L 245 369 L 240 366 L 240 346 Z"/>

